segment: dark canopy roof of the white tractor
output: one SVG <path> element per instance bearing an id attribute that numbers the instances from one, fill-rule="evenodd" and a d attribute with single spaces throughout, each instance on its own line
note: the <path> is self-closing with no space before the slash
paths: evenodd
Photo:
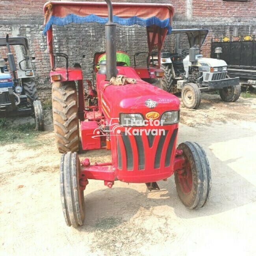
<path id="1" fill-rule="evenodd" d="M 174 29 L 172 30 L 172 34 L 181 34 L 186 33 L 189 41 L 189 46 L 193 47 L 194 45 L 202 46 L 206 36 L 208 35 L 208 29 L 200 29 L 200 28 L 189 28 L 189 29 Z"/>

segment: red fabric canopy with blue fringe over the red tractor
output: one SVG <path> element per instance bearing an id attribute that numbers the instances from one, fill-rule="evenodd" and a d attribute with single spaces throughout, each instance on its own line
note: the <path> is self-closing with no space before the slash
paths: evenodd
<path id="1" fill-rule="evenodd" d="M 113 22 L 132 26 L 139 25 L 147 28 L 148 50 L 161 49 L 165 36 L 172 31 L 171 21 L 174 8 L 171 4 L 137 4 L 112 3 Z M 53 67 L 53 35 L 52 25 L 65 26 L 70 23 L 108 22 L 108 7 L 106 2 L 47 2 L 44 6 L 45 29 L 47 36 L 50 62 Z"/>

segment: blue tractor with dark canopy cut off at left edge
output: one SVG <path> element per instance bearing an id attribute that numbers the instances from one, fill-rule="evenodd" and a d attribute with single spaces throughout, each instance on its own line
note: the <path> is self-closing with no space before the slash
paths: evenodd
<path id="1" fill-rule="evenodd" d="M 19 62 L 18 70 L 11 53 L 11 45 L 24 46 L 26 56 Z M 6 59 L 0 58 L 0 117 L 31 115 L 35 119 L 36 129 L 43 131 L 43 108 L 37 96 L 27 39 L 25 37 L 9 38 L 7 35 L 6 38 L 0 38 L 0 46 L 7 47 L 8 52 Z"/>

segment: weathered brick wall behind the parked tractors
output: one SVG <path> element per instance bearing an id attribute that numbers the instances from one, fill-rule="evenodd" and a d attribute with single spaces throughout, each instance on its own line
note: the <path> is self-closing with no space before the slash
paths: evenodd
<path id="1" fill-rule="evenodd" d="M 12 36 L 28 38 L 30 53 L 37 79 L 39 96 L 42 100 L 50 98 L 49 81 L 50 64 L 46 52 L 46 38 L 43 31 L 43 5 L 45 0 L 1 0 L 0 37 L 6 33 Z M 129 2 L 116 0 L 113 2 Z M 175 9 L 173 28 L 208 28 L 209 34 L 202 47 L 204 56 L 210 56 L 212 37 L 256 34 L 256 0 L 248 2 L 226 2 L 223 0 L 133 0 L 132 2 L 171 3 Z M 117 49 L 128 52 L 147 51 L 145 28 L 139 26 L 117 27 Z M 167 37 L 164 48 L 174 51 L 174 37 Z M 80 63 L 85 78 L 90 78 L 93 55 L 104 51 L 104 26 L 99 24 L 72 24 L 54 28 L 54 45 L 56 51 L 69 54 L 70 66 Z M 180 39 L 178 48 L 187 48 L 184 38 Z M 17 50 L 15 50 L 18 53 Z M 0 51 L 4 56 L 4 52 Z M 18 54 L 17 59 L 21 58 Z M 131 58 L 133 63 L 133 58 Z M 61 59 L 57 65 L 64 65 Z"/>

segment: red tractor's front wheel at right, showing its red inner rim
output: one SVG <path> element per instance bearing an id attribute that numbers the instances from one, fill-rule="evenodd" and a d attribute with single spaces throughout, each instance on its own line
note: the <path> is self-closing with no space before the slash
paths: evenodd
<path id="1" fill-rule="evenodd" d="M 174 173 L 178 195 L 187 208 L 201 208 L 211 191 L 211 169 L 206 153 L 195 142 L 181 143 L 178 149 L 183 151 L 186 160 L 185 168 Z"/>

